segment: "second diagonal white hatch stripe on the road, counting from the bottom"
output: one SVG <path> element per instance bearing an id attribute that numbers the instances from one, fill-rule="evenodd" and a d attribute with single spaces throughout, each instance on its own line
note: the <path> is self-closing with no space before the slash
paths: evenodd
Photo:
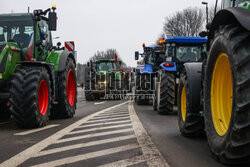
<path id="1" fill-rule="evenodd" d="M 104 155 L 119 153 L 119 152 L 126 151 L 126 150 L 132 150 L 138 147 L 139 147 L 138 144 L 129 144 L 129 145 L 121 146 L 121 147 L 110 148 L 110 149 L 91 152 L 91 153 L 87 153 L 83 155 L 62 158 L 62 159 L 58 159 L 55 161 L 50 161 L 47 163 L 35 165 L 33 167 L 48 167 L 48 166 L 53 167 L 53 166 L 66 165 L 66 164 L 70 164 L 70 163 L 74 163 L 74 162 L 78 162 L 78 161 L 82 161 L 82 160 L 86 160 L 90 158 L 96 158 L 96 157 L 100 157 Z"/>

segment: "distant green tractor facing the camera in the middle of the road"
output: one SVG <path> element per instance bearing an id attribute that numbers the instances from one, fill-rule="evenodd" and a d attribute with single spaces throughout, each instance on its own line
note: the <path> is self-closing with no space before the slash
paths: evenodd
<path id="1" fill-rule="evenodd" d="M 95 63 L 87 63 L 85 71 L 85 97 L 87 101 L 98 100 L 101 97 L 120 99 L 126 94 L 129 82 L 128 73 L 118 69 L 115 59 L 101 59 Z M 119 64 L 121 64 L 119 62 Z"/>

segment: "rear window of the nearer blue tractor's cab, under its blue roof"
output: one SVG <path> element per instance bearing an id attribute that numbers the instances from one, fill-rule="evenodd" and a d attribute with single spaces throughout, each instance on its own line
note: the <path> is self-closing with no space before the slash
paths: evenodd
<path id="1" fill-rule="evenodd" d="M 200 46 L 177 46 L 176 58 L 181 62 L 198 61 L 201 58 Z"/>

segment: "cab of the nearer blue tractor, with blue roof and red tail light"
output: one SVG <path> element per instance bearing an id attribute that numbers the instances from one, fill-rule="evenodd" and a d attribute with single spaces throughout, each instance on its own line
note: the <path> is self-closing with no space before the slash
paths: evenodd
<path id="1" fill-rule="evenodd" d="M 206 50 L 207 39 L 203 37 L 172 37 L 165 40 L 166 62 L 161 67 L 176 71 L 186 62 L 203 60 L 203 51 Z"/>

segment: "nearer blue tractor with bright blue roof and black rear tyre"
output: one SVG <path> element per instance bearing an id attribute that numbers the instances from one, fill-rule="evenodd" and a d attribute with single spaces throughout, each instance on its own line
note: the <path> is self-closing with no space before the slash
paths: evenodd
<path id="1" fill-rule="evenodd" d="M 180 75 L 186 62 L 201 62 L 207 39 L 203 37 L 171 37 L 164 43 L 166 61 L 160 64 L 156 77 L 153 108 L 160 114 L 171 114 L 177 104 Z"/>

